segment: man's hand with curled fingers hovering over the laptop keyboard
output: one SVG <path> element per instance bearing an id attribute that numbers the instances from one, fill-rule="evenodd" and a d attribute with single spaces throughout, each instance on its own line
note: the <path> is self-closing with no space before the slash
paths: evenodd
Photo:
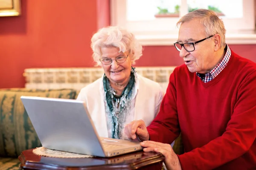
<path id="1" fill-rule="evenodd" d="M 143 120 L 134 120 L 125 125 L 125 134 L 131 141 L 138 141 L 138 139 L 147 141 L 149 139 L 149 133 Z"/>

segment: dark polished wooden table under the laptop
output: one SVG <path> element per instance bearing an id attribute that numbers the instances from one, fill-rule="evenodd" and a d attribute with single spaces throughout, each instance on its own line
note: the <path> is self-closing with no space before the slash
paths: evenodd
<path id="1" fill-rule="evenodd" d="M 143 151 L 112 158 L 52 158 L 32 150 L 24 150 L 18 157 L 21 170 L 160 170 L 164 161 L 161 153 Z"/>

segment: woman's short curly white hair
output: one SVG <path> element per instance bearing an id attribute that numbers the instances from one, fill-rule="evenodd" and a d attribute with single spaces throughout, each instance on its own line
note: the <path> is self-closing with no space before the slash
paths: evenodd
<path id="1" fill-rule="evenodd" d="M 100 57 L 102 56 L 101 48 L 117 47 L 119 52 L 130 51 L 132 64 L 142 56 L 142 45 L 134 37 L 134 34 L 128 32 L 122 27 L 108 26 L 99 29 L 91 38 L 91 48 L 93 50 L 93 60 L 100 65 Z"/>

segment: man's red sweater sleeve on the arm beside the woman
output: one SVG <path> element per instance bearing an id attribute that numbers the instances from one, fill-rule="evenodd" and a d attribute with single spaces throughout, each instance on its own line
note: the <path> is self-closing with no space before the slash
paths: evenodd
<path id="1" fill-rule="evenodd" d="M 150 140 L 156 142 L 171 144 L 180 135 L 176 105 L 175 70 L 170 75 L 169 85 L 163 97 L 160 111 L 147 129 Z"/>

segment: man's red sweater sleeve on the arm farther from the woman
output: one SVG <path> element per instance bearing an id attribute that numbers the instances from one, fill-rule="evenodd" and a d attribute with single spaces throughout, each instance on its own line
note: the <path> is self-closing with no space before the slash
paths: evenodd
<path id="1" fill-rule="evenodd" d="M 182 169 L 214 169 L 226 163 L 237 161 L 237 158 L 251 151 L 249 149 L 256 139 L 256 71 L 242 81 L 236 96 L 236 104 L 226 131 L 222 136 L 203 147 L 178 155 Z M 167 130 L 165 128 L 162 130 L 166 135 Z M 160 136 L 160 139 L 162 137 Z M 256 154 L 251 155 L 254 157 L 248 157 L 248 159 L 256 164 Z"/>

